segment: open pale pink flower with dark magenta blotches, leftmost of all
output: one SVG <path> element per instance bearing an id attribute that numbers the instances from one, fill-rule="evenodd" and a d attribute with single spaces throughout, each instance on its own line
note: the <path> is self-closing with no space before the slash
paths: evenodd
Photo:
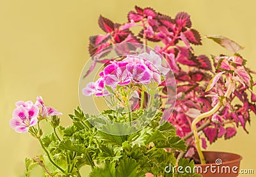
<path id="1" fill-rule="evenodd" d="M 29 127 L 36 125 L 38 114 L 39 108 L 35 105 L 31 105 L 31 107 L 20 105 L 13 111 L 10 127 L 18 133 L 26 133 Z"/>

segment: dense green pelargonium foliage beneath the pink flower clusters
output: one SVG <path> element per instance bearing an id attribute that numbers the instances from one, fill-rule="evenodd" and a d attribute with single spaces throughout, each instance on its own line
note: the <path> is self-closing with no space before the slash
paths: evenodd
<path id="1" fill-rule="evenodd" d="M 45 168 L 55 176 L 79 176 L 79 169 L 83 165 L 91 165 L 90 176 L 133 177 L 145 176 L 146 173 L 172 176 L 173 174 L 166 174 L 164 168 L 168 164 L 175 165 L 175 150 L 186 151 L 186 145 L 176 135 L 175 128 L 169 122 L 161 121 L 162 115 L 161 111 L 133 111 L 133 119 L 141 118 L 147 121 L 150 118 L 147 126 L 135 131 L 136 129 L 132 129 L 134 127 L 128 124 L 111 123 L 126 122 L 128 115 L 125 113 L 107 110 L 99 116 L 89 116 L 77 107 L 74 114 L 69 114 L 72 125 L 61 127 L 54 124 L 53 128 L 58 130 L 58 137 L 54 132 L 42 137 L 42 143 L 50 157 L 65 173 L 52 165 L 49 158 L 44 158 Z M 93 127 L 91 122 L 100 123 L 104 132 Z M 107 130 L 115 130 L 116 134 L 131 130 L 134 133 L 111 135 L 105 133 Z M 168 148 L 168 151 L 165 148 Z M 185 161 L 180 163 L 188 164 Z M 26 173 L 29 174 L 36 164 L 27 159 Z M 47 175 L 45 172 L 45 176 Z"/>

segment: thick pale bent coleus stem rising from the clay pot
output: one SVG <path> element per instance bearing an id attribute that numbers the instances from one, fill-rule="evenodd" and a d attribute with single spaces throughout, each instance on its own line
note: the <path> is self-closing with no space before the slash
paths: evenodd
<path id="1" fill-rule="evenodd" d="M 231 93 L 232 93 L 232 89 L 234 88 L 234 82 L 230 82 L 227 92 L 225 93 L 225 97 L 228 98 Z M 209 116 L 211 116 L 212 114 L 214 114 L 215 112 L 217 112 L 221 107 L 221 103 L 218 102 L 218 104 L 216 104 L 210 111 L 204 112 L 203 114 L 200 114 L 197 118 L 195 118 L 192 121 L 191 124 L 191 129 L 193 130 L 193 134 L 195 137 L 195 144 L 196 144 L 196 150 L 198 152 L 198 155 L 200 157 L 200 161 L 201 164 L 205 164 L 205 158 L 204 158 L 204 154 L 202 153 L 201 147 L 200 147 L 200 142 L 199 142 L 199 137 L 198 137 L 198 131 L 196 129 L 196 123 L 198 123 L 199 121 L 201 121 L 204 118 L 207 118 Z"/>

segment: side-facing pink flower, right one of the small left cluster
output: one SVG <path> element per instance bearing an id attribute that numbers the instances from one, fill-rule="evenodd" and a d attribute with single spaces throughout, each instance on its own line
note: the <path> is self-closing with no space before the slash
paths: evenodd
<path id="1" fill-rule="evenodd" d="M 35 105 L 37 107 L 42 107 L 40 112 L 40 115 L 42 116 L 42 118 L 48 118 L 49 116 L 62 115 L 62 113 L 58 112 L 57 109 L 54 109 L 53 107 L 45 106 L 41 96 L 36 97 Z"/>

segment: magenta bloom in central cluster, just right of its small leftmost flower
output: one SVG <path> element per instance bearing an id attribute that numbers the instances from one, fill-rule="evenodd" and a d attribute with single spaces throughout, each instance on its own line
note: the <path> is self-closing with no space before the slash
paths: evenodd
<path id="1" fill-rule="evenodd" d="M 124 86 L 131 82 L 131 78 L 128 75 L 126 65 L 128 63 L 124 61 L 113 61 L 110 65 L 104 68 L 103 75 L 105 84 L 115 88 L 116 85 Z"/>

